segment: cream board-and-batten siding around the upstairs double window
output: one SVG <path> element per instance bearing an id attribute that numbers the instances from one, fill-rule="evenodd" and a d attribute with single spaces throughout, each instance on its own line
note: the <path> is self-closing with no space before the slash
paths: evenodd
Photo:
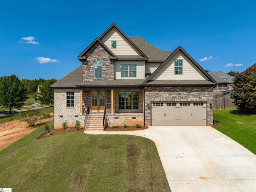
<path id="1" fill-rule="evenodd" d="M 114 61 L 114 79 L 130 79 L 121 78 L 121 65 L 136 64 L 136 79 L 145 78 L 145 62 L 144 61 Z"/>

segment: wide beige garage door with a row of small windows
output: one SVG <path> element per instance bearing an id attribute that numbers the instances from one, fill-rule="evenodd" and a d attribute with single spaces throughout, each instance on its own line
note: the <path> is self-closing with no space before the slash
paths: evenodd
<path id="1" fill-rule="evenodd" d="M 206 101 L 151 102 L 152 125 L 206 125 Z"/>

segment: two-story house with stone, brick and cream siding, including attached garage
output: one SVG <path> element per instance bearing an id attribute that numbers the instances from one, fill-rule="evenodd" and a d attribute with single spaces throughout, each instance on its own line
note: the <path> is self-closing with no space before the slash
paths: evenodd
<path id="1" fill-rule="evenodd" d="M 182 47 L 161 51 L 112 24 L 54 83 L 54 128 L 213 124 L 216 81 Z"/>

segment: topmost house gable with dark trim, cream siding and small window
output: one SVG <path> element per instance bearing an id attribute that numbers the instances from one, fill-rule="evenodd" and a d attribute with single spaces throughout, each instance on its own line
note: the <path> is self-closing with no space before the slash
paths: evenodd
<path id="1" fill-rule="evenodd" d="M 131 58 L 148 60 L 148 57 L 114 23 L 99 39 L 118 56 L 118 59 L 126 59 L 130 56 Z"/>

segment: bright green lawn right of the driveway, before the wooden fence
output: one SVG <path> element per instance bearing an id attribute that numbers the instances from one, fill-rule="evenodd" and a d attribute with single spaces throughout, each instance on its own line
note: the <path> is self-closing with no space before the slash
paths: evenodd
<path id="1" fill-rule="evenodd" d="M 214 110 L 214 128 L 256 154 L 256 116 L 238 115 L 238 109 Z"/>

